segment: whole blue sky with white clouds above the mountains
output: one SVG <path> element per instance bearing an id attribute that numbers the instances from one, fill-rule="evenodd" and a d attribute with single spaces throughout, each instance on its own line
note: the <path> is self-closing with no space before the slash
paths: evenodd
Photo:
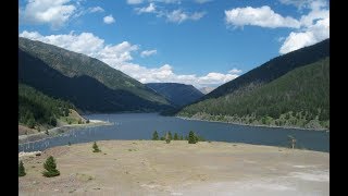
<path id="1" fill-rule="evenodd" d="M 330 38 L 328 0 L 20 0 L 18 36 L 141 83 L 217 87 Z"/>

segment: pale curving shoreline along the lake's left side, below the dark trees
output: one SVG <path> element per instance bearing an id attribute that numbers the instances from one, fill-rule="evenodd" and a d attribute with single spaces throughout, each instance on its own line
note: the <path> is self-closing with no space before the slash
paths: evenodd
<path id="1" fill-rule="evenodd" d="M 39 132 L 36 134 L 29 134 L 29 135 L 18 135 L 18 145 L 35 143 L 41 139 L 55 137 L 78 127 L 94 127 L 94 126 L 103 126 L 103 125 L 112 125 L 112 124 L 113 123 L 110 123 L 107 121 L 100 121 L 100 120 L 89 120 L 88 124 L 67 124 L 67 125 L 48 130 L 48 133 L 49 133 L 48 135 L 45 132 Z"/>

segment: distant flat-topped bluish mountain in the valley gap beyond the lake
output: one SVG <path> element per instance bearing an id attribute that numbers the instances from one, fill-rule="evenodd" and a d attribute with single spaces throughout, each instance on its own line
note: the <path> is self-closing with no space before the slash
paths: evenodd
<path id="1" fill-rule="evenodd" d="M 146 86 L 162 95 L 177 107 L 191 103 L 203 96 L 203 94 L 192 85 L 178 83 L 148 83 Z"/>

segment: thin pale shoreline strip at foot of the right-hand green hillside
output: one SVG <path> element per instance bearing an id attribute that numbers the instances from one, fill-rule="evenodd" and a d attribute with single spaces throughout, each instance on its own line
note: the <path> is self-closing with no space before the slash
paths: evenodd
<path id="1" fill-rule="evenodd" d="M 327 130 L 327 128 L 315 130 L 315 128 L 306 128 L 306 127 L 298 127 L 298 126 L 276 126 L 276 125 L 264 125 L 264 124 L 244 124 L 244 123 L 236 123 L 236 122 L 224 122 L 224 121 L 211 121 L 211 120 L 203 120 L 203 119 L 191 119 L 191 118 L 185 118 L 185 117 L 179 117 L 179 115 L 174 115 L 174 118 L 188 120 L 188 121 L 217 122 L 217 123 L 226 123 L 226 124 L 243 125 L 243 126 L 294 128 L 294 130 L 306 130 L 306 131 L 327 132 L 327 133 L 330 133 L 330 130 Z"/>

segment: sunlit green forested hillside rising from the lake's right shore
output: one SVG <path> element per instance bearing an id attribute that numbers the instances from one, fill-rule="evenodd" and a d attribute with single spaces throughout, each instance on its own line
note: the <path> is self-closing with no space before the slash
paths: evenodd
<path id="1" fill-rule="evenodd" d="M 252 83 L 181 110 L 181 117 L 244 124 L 330 128 L 330 58 L 269 84 Z"/>

